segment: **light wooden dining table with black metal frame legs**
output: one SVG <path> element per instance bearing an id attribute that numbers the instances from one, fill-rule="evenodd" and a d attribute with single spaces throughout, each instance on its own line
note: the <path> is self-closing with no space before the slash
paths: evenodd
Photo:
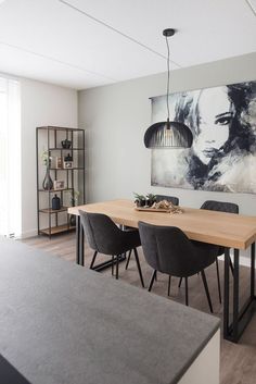
<path id="1" fill-rule="evenodd" d="M 182 213 L 138 211 L 130 200 L 119 199 L 72 207 L 76 215 L 76 260 L 84 265 L 84 230 L 79 211 L 103 213 L 116 224 L 138 227 L 139 221 L 177 226 L 193 240 L 225 247 L 223 337 L 238 343 L 255 310 L 256 216 L 182 207 Z M 240 250 L 251 247 L 249 295 L 240 304 Z M 230 249 L 233 248 L 232 306 L 230 299 Z M 188 256 L 189 257 L 189 256 Z"/>

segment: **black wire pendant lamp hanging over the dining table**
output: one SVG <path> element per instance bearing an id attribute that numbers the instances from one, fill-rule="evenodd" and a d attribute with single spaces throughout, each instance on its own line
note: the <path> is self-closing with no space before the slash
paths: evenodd
<path id="1" fill-rule="evenodd" d="M 169 42 L 168 37 L 175 35 L 175 29 L 168 28 L 163 30 L 163 35 L 166 38 L 166 45 L 168 50 L 167 57 L 167 94 L 166 94 L 166 103 L 167 103 L 167 120 L 166 122 L 155 123 L 151 125 L 144 135 L 144 145 L 146 148 L 190 148 L 193 141 L 193 136 L 190 128 L 179 122 L 169 121 L 169 77 L 170 77 L 170 67 L 169 67 Z"/>

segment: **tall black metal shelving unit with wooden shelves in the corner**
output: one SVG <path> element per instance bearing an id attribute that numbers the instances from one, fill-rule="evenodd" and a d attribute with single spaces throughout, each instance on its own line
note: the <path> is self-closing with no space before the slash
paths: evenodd
<path id="1" fill-rule="evenodd" d="M 62 140 L 69 140 L 71 147 L 63 148 Z M 61 157 L 64 160 L 67 153 L 71 153 L 74 162 L 72 168 L 56 168 L 48 161 L 46 172 L 49 172 L 52 181 L 57 181 L 60 172 L 64 178 L 65 187 L 59 189 L 42 188 L 42 169 L 40 162 L 40 151 L 44 148 L 48 158 Z M 37 152 L 37 226 L 38 235 L 44 234 L 50 238 L 52 235 L 73 231 L 74 225 L 71 224 L 67 213 L 68 206 L 63 205 L 64 191 L 69 191 L 72 200 L 75 199 L 75 187 L 78 188 L 79 182 L 79 201 L 85 203 L 86 184 L 85 184 L 85 131 L 79 128 L 60 127 L 60 126 L 40 126 L 36 129 L 36 152 Z M 48 198 L 46 199 L 46 194 Z M 57 195 L 61 199 L 61 209 L 52 209 L 52 197 Z M 63 214 L 65 215 L 63 218 Z M 62 215 L 61 220 L 60 216 Z M 46 220 L 47 218 L 47 220 Z M 48 225 L 46 225 L 46 221 Z M 43 223 L 42 223 L 43 222 Z M 44 224 L 44 225 L 43 225 Z"/>

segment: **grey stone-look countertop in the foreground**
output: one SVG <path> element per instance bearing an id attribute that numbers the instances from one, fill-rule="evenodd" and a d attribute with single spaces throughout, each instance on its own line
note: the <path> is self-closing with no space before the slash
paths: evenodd
<path id="1" fill-rule="evenodd" d="M 33 384 L 176 383 L 219 319 L 0 239 L 0 354 Z"/>

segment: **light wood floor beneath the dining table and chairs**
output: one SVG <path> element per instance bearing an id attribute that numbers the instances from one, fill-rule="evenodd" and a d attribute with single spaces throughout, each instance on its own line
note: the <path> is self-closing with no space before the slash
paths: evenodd
<path id="1" fill-rule="evenodd" d="M 65 234 L 53 237 L 51 240 L 48 237 L 40 236 L 23 240 L 27 245 L 43 249 L 56 257 L 65 259 L 67 262 L 75 262 L 75 234 Z M 85 247 L 86 264 L 89 265 L 92 251 L 88 248 L 87 244 Z M 145 263 L 142 249 L 139 249 L 142 272 L 145 284 L 148 285 L 152 270 Z M 104 257 L 99 255 L 98 262 L 104 260 Z M 223 276 L 223 262 L 220 261 L 220 275 L 221 285 Z M 82 267 L 81 267 L 82 268 Z M 111 276 L 111 270 L 104 272 L 105 275 Z M 219 304 L 217 281 L 216 281 L 216 268 L 215 265 L 206 270 L 207 282 L 209 285 L 209 292 L 214 306 L 214 314 L 221 318 L 222 307 Z M 135 258 L 131 257 L 130 265 L 125 271 L 125 263 L 121 263 L 119 268 L 119 280 L 129 284 L 141 287 L 136 268 Z M 167 297 L 167 281 L 168 277 L 163 274 L 158 274 L 157 282 L 153 286 L 153 293 Z M 241 268 L 241 300 L 244 294 L 248 293 L 249 273 L 248 269 Z M 171 280 L 171 295 L 168 298 L 179 302 L 184 302 L 184 286 L 178 288 L 178 278 L 172 277 Z M 189 300 L 190 306 L 199 310 L 208 312 L 208 306 L 203 288 L 202 280 L 199 275 L 195 275 L 189 280 Z M 221 356 L 220 356 L 220 383 L 221 384 L 255 384 L 256 383 L 256 315 L 252 319 L 249 325 L 244 332 L 239 344 L 233 344 L 221 339 Z"/>

